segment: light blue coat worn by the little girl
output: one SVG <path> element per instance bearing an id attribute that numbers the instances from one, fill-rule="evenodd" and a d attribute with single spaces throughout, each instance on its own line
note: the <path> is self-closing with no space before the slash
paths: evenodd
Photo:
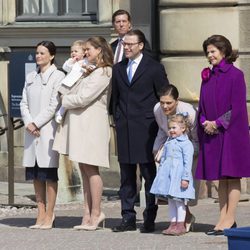
<path id="1" fill-rule="evenodd" d="M 192 176 L 193 153 L 193 145 L 185 134 L 165 142 L 150 192 L 156 196 L 184 201 L 195 199 Z M 181 188 L 181 180 L 189 181 L 188 188 Z"/>

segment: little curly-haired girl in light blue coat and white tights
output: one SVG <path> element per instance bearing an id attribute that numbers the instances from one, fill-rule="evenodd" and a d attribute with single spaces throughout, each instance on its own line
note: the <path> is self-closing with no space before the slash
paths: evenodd
<path id="1" fill-rule="evenodd" d="M 190 121 L 187 113 L 173 115 L 168 120 L 169 139 L 164 144 L 160 165 L 150 192 L 168 198 L 170 226 L 166 235 L 186 233 L 186 204 L 195 199 L 192 161 L 194 148 L 188 139 Z"/>

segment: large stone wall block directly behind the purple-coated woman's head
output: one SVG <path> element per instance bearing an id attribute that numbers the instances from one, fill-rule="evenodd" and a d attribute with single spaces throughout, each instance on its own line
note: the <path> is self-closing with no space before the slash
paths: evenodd
<path id="1" fill-rule="evenodd" d="M 239 48 L 239 10 L 226 8 L 178 8 L 160 12 L 162 53 L 201 52 L 203 41 L 213 35 L 226 36 Z"/>

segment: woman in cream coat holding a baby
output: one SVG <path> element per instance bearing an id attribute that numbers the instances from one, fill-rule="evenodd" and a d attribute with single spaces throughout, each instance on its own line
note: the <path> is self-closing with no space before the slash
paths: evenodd
<path id="1" fill-rule="evenodd" d="M 84 213 L 77 230 L 96 230 L 105 215 L 101 212 L 103 182 L 98 167 L 109 167 L 110 126 L 108 96 L 113 53 L 103 37 L 86 41 L 88 62 L 96 65 L 61 96 L 66 110 L 53 148 L 79 163 L 83 179 Z"/>

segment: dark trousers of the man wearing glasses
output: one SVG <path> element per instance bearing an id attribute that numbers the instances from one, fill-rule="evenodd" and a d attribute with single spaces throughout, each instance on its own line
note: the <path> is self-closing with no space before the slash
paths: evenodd
<path id="1" fill-rule="evenodd" d="M 151 194 L 150 188 L 156 175 L 155 162 L 139 164 L 140 172 L 145 180 L 146 208 L 143 212 L 144 226 L 154 225 L 158 206 L 155 204 L 155 196 Z M 128 221 L 136 221 L 134 205 L 136 201 L 136 164 L 120 163 L 121 170 L 121 207 L 122 217 Z"/>

